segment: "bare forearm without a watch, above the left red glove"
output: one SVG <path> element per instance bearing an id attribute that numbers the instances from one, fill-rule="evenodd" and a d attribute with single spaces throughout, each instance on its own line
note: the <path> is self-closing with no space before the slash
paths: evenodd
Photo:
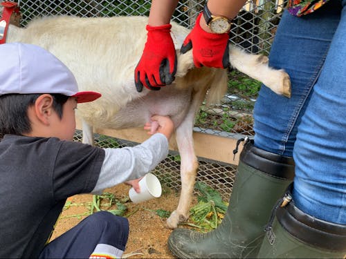
<path id="1" fill-rule="evenodd" d="M 149 13 L 149 26 L 161 26 L 170 23 L 179 0 L 152 0 Z"/>

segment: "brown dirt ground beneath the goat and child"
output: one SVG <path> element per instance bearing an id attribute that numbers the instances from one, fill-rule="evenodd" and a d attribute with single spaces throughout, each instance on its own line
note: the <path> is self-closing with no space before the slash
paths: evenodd
<path id="1" fill-rule="evenodd" d="M 116 198 L 125 198 L 130 186 L 120 184 L 105 192 L 114 193 Z M 80 220 L 86 218 L 90 211 L 93 195 L 75 195 L 69 198 L 70 206 L 66 208 L 58 220 L 51 240 L 74 227 Z M 174 211 L 179 201 L 179 193 L 163 187 L 160 198 L 140 204 L 126 202 L 128 210 L 125 215 L 129 220 L 129 240 L 124 258 L 174 258 L 167 248 L 167 238 L 172 232 L 165 225 L 165 218 L 156 215 L 155 211 Z M 197 202 L 194 200 L 194 202 Z"/>

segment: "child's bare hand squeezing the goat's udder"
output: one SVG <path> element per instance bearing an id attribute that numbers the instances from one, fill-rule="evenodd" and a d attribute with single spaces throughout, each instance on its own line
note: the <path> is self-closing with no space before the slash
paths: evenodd
<path id="1" fill-rule="evenodd" d="M 154 115 L 151 118 L 151 122 L 147 122 L 144 125 L 145 131 L 148 131 L 149 135 L 155 133 L 162 133 L 170 140 L 170 137 L 174 131 L 174 124 L 169 116 Z"/>

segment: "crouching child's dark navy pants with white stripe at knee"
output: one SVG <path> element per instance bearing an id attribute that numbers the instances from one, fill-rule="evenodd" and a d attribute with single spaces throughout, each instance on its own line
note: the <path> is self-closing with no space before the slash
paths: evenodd
<path id="1" fill-rule="evenodd" d="M 39 258 L 89 258 L 91 253 L 120 258 L 128 237 L 127 218 L 100 211 L 47 244 Z"/>

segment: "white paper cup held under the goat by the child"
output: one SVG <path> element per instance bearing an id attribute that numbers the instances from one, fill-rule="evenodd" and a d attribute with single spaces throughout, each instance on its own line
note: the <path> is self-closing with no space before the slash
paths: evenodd
<path id="1" fill-rule="evenodd" d="M 152 173 L 147 173 L 140 181 L 140 193 L 136 193 L 134 187 L 129 189 L 129 198 L 134 203 L 145 202 L 161 196 L 161 183 Z"/>

